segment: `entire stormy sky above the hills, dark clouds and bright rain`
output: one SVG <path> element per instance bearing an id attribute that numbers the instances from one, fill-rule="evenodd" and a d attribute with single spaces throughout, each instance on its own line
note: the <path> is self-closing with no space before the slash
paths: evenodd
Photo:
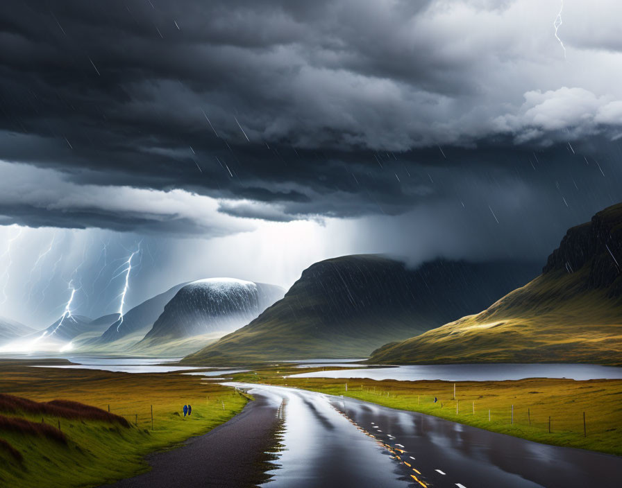
<path id="1" fill-rule="evenodd" d="M 47 324 L 69 286 L 76 313 L 117 311 L 134 250 L 128 306 L 202 277 L 287 287 L 352 252 L 544 264 L 622 200 L 621 18 L 615 0 L 2 2 L 0 315 Z"/>

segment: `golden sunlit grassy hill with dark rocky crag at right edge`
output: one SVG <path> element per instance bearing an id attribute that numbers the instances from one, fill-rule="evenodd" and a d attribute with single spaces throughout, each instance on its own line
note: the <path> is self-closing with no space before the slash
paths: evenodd
<path id="1" fill-rule="evenodd" d="M 526 286 L 482 313 L 387 344 L 370 361 L 622 365 L 622 204 L 569 229 Z"/>

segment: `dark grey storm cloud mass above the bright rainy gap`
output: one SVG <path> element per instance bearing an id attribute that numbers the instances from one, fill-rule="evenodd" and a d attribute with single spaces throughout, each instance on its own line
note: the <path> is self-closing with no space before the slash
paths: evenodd
<path id="1" fill-rule="evenodd" d="M 616 78 L 616 26 L 597 16 L 597 38 L 564 31 L 575 69 L 541 10 L 484 0 L 4 2 L 0 159 L 59 176 L 33 173 L 0 214 L 221 235 L 237 232 L 239 217 L 396 216 L 475 200 L 486 209 L 511 201 L 516 184 L 544 203 L 568 178 L 584 186 L 564 191 L 592 209 L 620 197 L 610 139 L 622 106 L 619 87 L 583 73 L 608 66 Z M 521 12 L 541 30 L 525 35 Z M 599 49 L 609 54 L 583 54 Z M 580 166 L 583 154 L 608 168 L 604 181 L 596 159 Z M 81 185 L 92 198 L 69 198 Z M 166 209 L 128 187 L 225 199 L 216 211 L 233 219 L 211 225 L 190 200 Z"/>

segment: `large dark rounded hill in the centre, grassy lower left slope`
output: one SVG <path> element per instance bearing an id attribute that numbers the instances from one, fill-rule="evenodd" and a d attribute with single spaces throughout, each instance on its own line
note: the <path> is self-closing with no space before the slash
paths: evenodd
<path id="1" fill-rule="evenodd" d="M 480 310 L 535 275 L 525 263 L 437 260 L 409 269 L 378 255 L 328 259 L 304 270 L 253 322 L 184 361 L 364 357 Z"/>

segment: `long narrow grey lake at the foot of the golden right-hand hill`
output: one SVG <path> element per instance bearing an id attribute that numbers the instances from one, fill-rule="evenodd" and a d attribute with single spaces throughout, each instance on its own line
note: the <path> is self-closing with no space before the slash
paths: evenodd
<path id="1" fill-rule="evenodd" d="M 325 366 L 325 365 L 319 365 Z M 331 365 L 332 366 L 332 365 Z M 342 366 L 352 366 L 343 364 Z M 523 378 L 622 379 L 622 368 L 578 364 L 408 365 L 292 374 L 290 378 L 372 380 L 504 381 Z"/>

